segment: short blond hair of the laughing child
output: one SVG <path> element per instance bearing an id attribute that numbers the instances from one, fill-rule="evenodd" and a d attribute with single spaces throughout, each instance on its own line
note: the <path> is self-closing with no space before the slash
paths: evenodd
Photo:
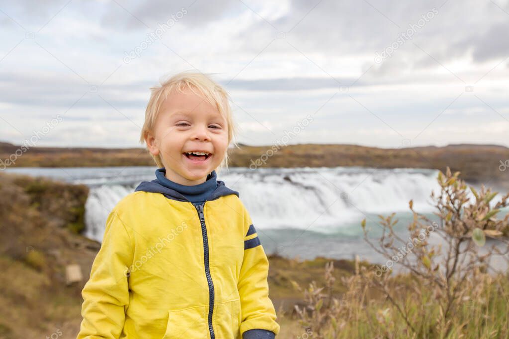
<path id="1" fill-rule="evenodd" d="M 174 91 L 183 93 L 183 90 L 186 88 L 190 89 L 195 95 L 203 98 L 212 106 L 217 107 L 219 113 L 221 113 L 222 117 L 228 124 L 228 145 L 230 145 L 230 142 L 233 141 L 234 146 L 238 147 L 236 142 L 238 128 L 233 121 L 228 92 L 217 82 L 212 80 L 210 74 L 206 75 L 201 72 L 192 71 L 177 73 L 166 80 L 160 81 L 160 85 L 150 88 L 152 95 L 150 96 L 150 100 L 145 111 L 145 124 L 143 125 L 139 141 L 141 143 L 146 142 L 148 134 L 154 131 L 156 118 L 159 115 L 161 106 L 168 95 L 174 93 Z M 223 161 L 216 169 L 216 173 L 218 174 L 222 168 L 228 169 L 228 150 L 229 149 L 227 148 Z M 164 166 L 159 155 L 154 156 L 151 153 L 151 156 L 158 167 Z"/>

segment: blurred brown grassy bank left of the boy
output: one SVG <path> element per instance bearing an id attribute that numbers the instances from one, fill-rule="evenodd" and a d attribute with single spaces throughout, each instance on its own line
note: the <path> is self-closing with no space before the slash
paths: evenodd
<path id="1" fill-rule="evenodd" d="M 83 284 L 65 285 L 65 266 L 84 276 L 99 244 L 81 228 L 86 187 L 0 174 L 0 338 L 75 338 Z"/>

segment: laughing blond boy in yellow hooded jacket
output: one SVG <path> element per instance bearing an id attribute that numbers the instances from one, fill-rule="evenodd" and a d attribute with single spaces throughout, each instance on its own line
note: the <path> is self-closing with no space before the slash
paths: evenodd
<path id="1" fill-rule="evenodd" d="M 227 92 L 179 73 L 151 88 L 158 165 L 111 211 L 82 290 L 83 338 L 274 338 L 268 260 L 239 193 L 217 180 L 236 134 Z"/>

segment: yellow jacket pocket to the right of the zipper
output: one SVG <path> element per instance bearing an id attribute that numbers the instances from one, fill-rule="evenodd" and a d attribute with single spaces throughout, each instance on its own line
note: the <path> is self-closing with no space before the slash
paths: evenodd
<path id="1" fill-rule="evenodd" d="M 239 298 L 218 303 L 216 308 L 216 322 L 214 325 L 216 337 L 240 339 L 241 317 Z"/>

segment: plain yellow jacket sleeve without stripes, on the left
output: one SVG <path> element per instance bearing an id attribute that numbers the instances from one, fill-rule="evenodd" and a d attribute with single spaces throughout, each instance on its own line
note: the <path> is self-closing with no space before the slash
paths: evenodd
<path id="1" fill-rule="evenodd" d="M 112 210 L 106 221 L 101 248 L 90 279 L 81 296 L 81 321 L 77 339 L 118 339 L 129 305 L 128 269 L 133 260 L 133 243 L 126 225 Z"/>

